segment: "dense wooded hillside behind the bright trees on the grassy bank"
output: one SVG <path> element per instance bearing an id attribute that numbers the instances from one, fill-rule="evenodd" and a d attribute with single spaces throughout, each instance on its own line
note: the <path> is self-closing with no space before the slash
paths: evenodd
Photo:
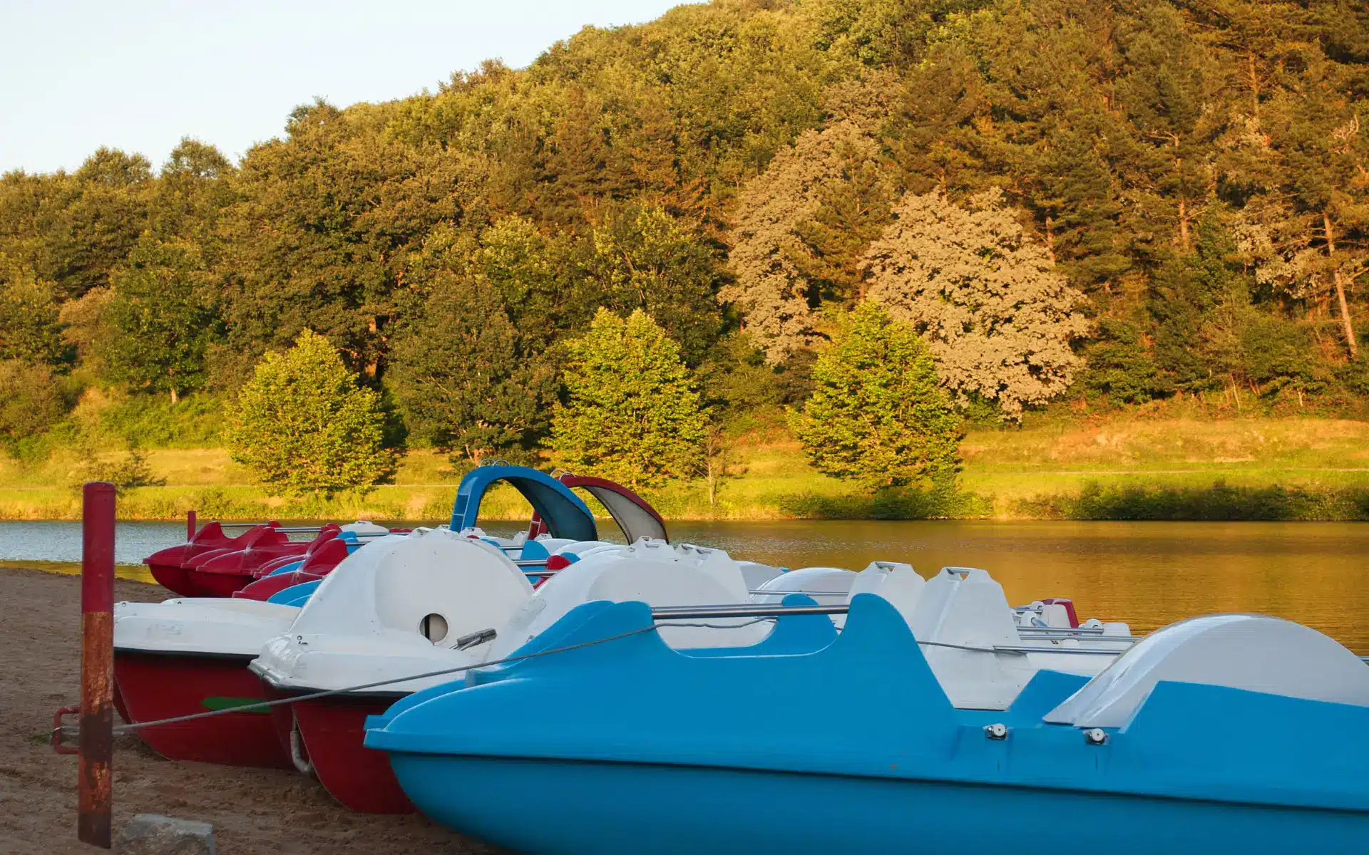
<path id="1" fill-rule="evenodd" d="M 238 163 L 4 174 L 0 440 L 77 442 L 108 390 L 190 431 L 312 331 L 387 447 L 530 460 L 591 320 L 641 309 L 726 443 L 810 398 L 864 304 L 965 424 L 1355 419 L 1366 164 L 1364 3 L 682 5 L 301 105 Z"/>

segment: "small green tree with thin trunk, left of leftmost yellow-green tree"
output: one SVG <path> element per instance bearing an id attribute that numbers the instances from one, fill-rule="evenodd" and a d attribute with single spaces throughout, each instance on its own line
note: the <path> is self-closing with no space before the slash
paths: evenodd
<path id="1" fill-rule="evenodd" d="M 138 242 L 112 276 L 103 315 L 112 335 L 103 353 L 108 379 L 170 393 L 172 404 L 204 384 L 205 352 L 222 324 L 203 275 L 197 245 L 151 235 Z"/>

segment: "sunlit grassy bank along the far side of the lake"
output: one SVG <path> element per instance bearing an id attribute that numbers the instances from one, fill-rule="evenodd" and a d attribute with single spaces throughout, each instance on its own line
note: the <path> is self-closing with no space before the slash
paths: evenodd
<path id="1" fill-rule="evenodd" d="M 709 503 L 702 482 L 650 492 L 672 518 L 1369 518 L 1369 421 L 1317 419 L 1116 419 L 1080 427 L 1028 424 L 972 431 L 956 494 L 869 495 L 815 472 L 784 438 L 742 445 Z M 457 473 L 445 457 L 409 453 L 394 479 L 366 494 L 272 497 L 222 449 L 145 451 L 160 486 L 130 490 L 125 518 L 441 520 Z M 0 518 L 77 518 L 81 461 L 55 451 L 41 464 L 0 462 Z M 489 518 L 523 518 L 522 498 L 496 490 Z"/>

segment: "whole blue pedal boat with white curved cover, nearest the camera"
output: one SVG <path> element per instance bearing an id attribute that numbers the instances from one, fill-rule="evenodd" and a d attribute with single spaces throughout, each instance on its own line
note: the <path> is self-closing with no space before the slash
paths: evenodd
<path id="1" fill-rule="evenodd" d="M 586 603 L 520 653 L 580 647 L 418 692 L 366 744 L 423 813 L 522 852 L 998 852 L 1042 822 L 1109 855 L 1369 851 L 1369 668 L 1298 624 L 1181 621 L 988 711 L 873 595 L 839 636 L 786 616 L 754 648 L 675 651 L 657 618 Z"/>

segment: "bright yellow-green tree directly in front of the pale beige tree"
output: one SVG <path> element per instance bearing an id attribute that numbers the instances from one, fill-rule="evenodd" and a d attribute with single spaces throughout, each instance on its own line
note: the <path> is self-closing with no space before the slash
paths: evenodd
<path id="1" fill-rule="evenodd" d="M 813 383 L 790 423 L 819 472 L 871 488 L 954 480 L 960 419 L 910 327 L 860 304 L 819 354 Z"/>

